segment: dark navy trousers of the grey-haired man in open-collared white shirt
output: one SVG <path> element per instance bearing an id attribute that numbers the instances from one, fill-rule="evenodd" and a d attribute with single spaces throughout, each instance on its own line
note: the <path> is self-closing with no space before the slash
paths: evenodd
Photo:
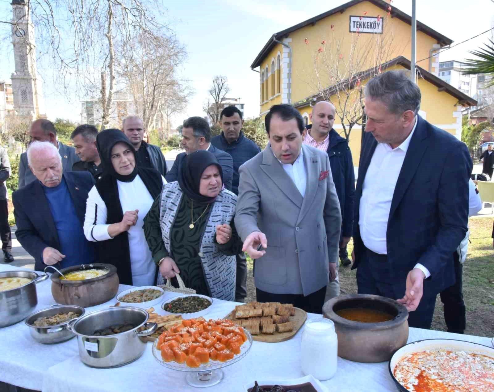
<path id="1" fill-rule="evenodd" d="M 391 272 L 386 255 L 378 255 L 366 249 L 357 267 L 357 289 L 359 294 L 374 294 L 397 300 L 405 296 L 406 281 L 397 282 Z M 430 329 L 436 296 L 423 296 L 417 309 L 410 312 L 408 324 L 415 328 Z"/>

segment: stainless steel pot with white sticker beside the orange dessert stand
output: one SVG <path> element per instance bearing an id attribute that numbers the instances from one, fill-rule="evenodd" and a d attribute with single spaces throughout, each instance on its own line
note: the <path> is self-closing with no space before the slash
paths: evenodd
<path id="1" fill-rule="evenodd" d="M 96 310 L 69 321 L 67 329 L 77 335 L 81 361 L 91 367 L 119 367 L 139 358 L 146 349 L 143 337 L 158 328 L 148 323 L 146 310 L 117 306 Z M 94 336 L 94 332 L 113 325 L 132 324 L 134 328 L 115 335 Z"/>

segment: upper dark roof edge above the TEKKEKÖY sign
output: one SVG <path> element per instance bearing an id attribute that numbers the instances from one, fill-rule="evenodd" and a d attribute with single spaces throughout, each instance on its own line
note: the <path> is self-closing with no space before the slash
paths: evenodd
<path id="1" fill-rule="evenodd" d="M 275 33 L 271 36 L 271 38 L 264 45 L 264 47 L 259 52 L 259 54 L 257 54 L 256 58 L 254 59 L 254 61 L 250 65 L 250 68 L 253 69 L 253 68 L 259 67 L 261 65 L 261 62 L 264 59 L 264 57 L 267 55 L 267 53 L 269 53 L 273 49 L 273 47 L 277 44 L 274 41 L 275 39 L 281 40 L 283 38 L 286 38 L 293 31 L 301 29 L 302 27 L 305 27 L 305 26 L 310 25 L 310 24 L 315 25 L 317 21 L 324 19 L 328 16 L 331 16 L 331 15 L 335 14 L 336 12 L 343 13 L 346 8 L 349 8 L 349 7 L 351 7 L 355 4 L 358 4 L 362 1 L 369 1 L 372 4 L 374 4 L 375 6 L 382 8 L 384 11 L 387 11 L 387 7 L 389 6 L 389 4 L 383 0 L 352 0 L 352 1 L 348 1 L 347 3 L 340 5 L 336 8 L 330 9 L 327 12 L 323 12 L 320 15 L 317 15 L 317 16 L 314 16 L 310 19 L 307 19 L 304 22 L 301 22 L 301 23 L 296 24 L 294 26 L 288 27 L 288 29 L 279 31 L 278 33 Z M 395 7 L 391 8 L 391 17 L 398 18 L 398 19 L 402 20 L 403 22 L 408 23 L 409 25 L 412 25 L 412 17 L 410 15 L 407 15 L 405 12 L 400 11 L 398 8 L 395 8 Z M 431 36 L 432 38 L 435 38 L 437 40 L 438 44 L 440 44 L 442 46 L 451 45 L 453 43 L 453 40 L 449 39 L 448 37 L 443 36 L 442 34 L 438 33 L 437 31 L 435 31 L 435 30 L 431 29 L 430 27 L 424 25 L 423 23 L 419 22 L 418 20 L 417 20 L 417 31 L 422 31 L 425 34 Z"/>

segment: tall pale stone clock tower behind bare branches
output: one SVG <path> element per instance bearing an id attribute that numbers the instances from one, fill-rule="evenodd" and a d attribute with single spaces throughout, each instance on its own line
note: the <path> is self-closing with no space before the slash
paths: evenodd
<path id="1" fill-rule="evenodd" d="M 15 72 L 11 75 L 14 110 L 32 120 L 46 118 L 42 101 L 42 82 L 36 69 L 34 25 L 29 0 L 12 0 L 12 44 Z"/>

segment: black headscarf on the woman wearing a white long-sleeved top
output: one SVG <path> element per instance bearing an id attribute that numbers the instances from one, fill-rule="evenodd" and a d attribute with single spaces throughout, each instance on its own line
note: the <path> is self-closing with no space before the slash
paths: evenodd
<path id="1" fill-rule="evenodd" d="M 134 153 L 135 166 L 132 173 L 123 175 L 118 174 L 112 164 L 112 149 L 117 143 L 125 143 Z M 117 129 L 104 130 L 96 136 L 96 148 L 98 149 L 99 158 L 103 165 L 103 173 L 117 178 L 120 181 L 131 182 L 138 173 L 137 169 L 137 151 L 130 143 L 125 133 Z"/>

